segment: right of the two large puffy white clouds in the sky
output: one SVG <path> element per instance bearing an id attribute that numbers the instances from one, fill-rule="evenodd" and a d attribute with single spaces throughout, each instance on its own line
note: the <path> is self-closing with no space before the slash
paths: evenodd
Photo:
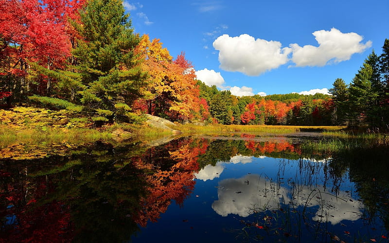
<path id="1" fill-rule="evenodd" d="M 361 43 L 363 37 L 356 33 L 341 33 L 332 28 L 330 31 L 319 30 L 312 33 L 319 46 L 299 46 L 290 44 L 293 50 L 292 61 L 297 67 L 324 66 L 331 62 L 350 60 L 354 53 L 361 53 L 371 47 L 371 41 Z"/>

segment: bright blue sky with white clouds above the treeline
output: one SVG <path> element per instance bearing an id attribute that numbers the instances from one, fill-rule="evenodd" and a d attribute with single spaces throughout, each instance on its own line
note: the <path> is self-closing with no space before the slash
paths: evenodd
<path id="1" fill-rule="evenodd" d="M 389 0 L 125 0 L 124 8 L 136 33 L 160 39 L 173 57 L 185 52 L 200 80 L 238 96 L 350 83 L 389 38 Z"/>

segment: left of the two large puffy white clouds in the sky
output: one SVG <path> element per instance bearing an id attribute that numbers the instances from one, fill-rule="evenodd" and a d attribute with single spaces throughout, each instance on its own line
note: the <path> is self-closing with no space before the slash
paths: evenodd
<path id="1" fill-rule="evenodd" d="M 281 48 L 281 42 L 254 39 L 244 34 L 236 37 L 221 35 L 213 47 L 219 51 L 220 68 L 257 76 L 288 62 L 291 49 Z"/>

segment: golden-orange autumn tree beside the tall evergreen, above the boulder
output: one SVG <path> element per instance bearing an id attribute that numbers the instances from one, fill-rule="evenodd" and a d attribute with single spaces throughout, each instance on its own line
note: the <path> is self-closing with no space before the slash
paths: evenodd
<path id="1" fill-rule="evenodd" d="M 136 52 L 144 60 L 141 68 L 148 73 L 148 86 L 139 101 L 144 111 L 174 121 L 199 118 L 199 87 L 184 54 L 173 60 L 159 39 L 150 41 L 148 35 L 142 36 Z"/>

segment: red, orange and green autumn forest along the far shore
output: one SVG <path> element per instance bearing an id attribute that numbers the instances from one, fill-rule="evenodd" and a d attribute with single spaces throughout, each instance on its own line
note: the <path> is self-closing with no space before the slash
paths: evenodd
<path id="1" fill-rule="evenodd" d="M 358 67 L 355 67 L 357 70 Z M 143 120 L 181 123 L 389 124 L 389 39 L 350 84 L 331 95 L 237 97 L 197 80 L 185 52 L 134 33 L 122 0 L 0 0 L 0 108 L 66 109 L 101 126 Z"/>

